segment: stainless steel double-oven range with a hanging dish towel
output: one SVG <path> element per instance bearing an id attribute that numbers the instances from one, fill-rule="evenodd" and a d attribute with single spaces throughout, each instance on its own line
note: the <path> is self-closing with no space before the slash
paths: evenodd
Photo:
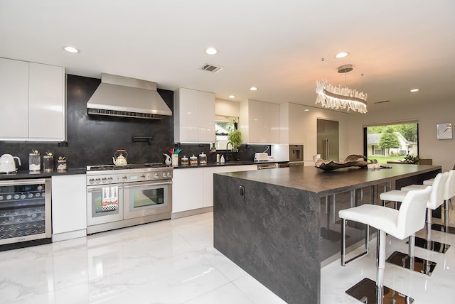
<path id="1" fill-rule="evenodd" d="M 172 167 L 87 166 L 87 234 L 171 219 Z"/>

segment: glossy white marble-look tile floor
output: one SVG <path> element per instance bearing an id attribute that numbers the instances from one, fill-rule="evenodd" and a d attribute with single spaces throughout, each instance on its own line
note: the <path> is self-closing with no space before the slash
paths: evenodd
<path id="1" fill-rule="evenodd" d="M 455 235 L 433 232 L 455 246 Z M 390 238 L 387 256 L 407 252 Z M 387 264 L 385 284 L 419 303 L 454 303 L 455 247 L 445 254 L 416 249 L 438 263 L 431 277 Z M 321 303 L 359 303 L 345 291 L 375 279 L 370 254 L 321 271 Z M 437 299 L 437 300 L 435 300 Z M 284 303 L 213 249 L 213 214 L 144 224 L 89 237 L 0 252 L 0 303 Z M 312 303 L 311 303 L 312 304 Z"/>

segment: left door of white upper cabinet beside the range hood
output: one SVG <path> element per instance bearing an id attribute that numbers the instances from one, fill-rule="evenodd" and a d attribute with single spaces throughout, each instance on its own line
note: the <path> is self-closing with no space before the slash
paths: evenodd
<path id="1" fill-rule="evenodd" d="M 199 141 L 199 92 L 180 89 L 180 141 Z"/>

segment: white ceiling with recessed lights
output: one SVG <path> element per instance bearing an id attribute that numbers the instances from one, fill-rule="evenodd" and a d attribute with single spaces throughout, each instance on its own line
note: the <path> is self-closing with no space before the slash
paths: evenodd
<path id="1" fill-rule="evenodd" d="M 0 57 L 313 107 L 326 77 L 368 93 L 369 112 L 455 102 L 454 34 L 454 0 L 0 0 Z"/>

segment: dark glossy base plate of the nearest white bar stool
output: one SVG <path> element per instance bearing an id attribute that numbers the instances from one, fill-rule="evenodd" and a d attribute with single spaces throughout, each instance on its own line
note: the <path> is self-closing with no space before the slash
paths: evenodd
<path id="1" fill-rule="evenodd" d="M 351 297 L 356 298 L 361 303 L 376 303 L 376 282 L 369 278 L 364 278 L 362 281 L 349 288 L 346 293 Z M 413 302 L 413 298 L 384 286 L 383 303 L 409 304 Z"/>

